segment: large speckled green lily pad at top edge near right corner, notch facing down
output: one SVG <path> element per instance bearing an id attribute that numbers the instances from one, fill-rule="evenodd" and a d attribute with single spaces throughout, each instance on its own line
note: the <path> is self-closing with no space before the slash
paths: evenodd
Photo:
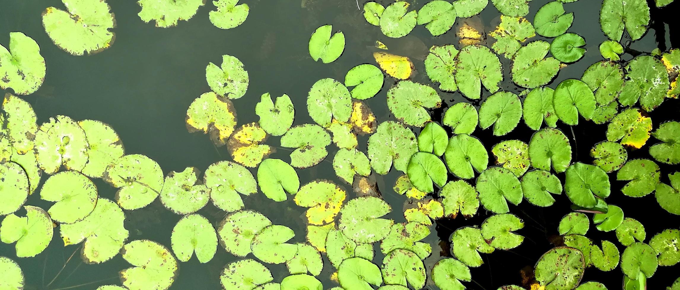
<path id="1" fill-rule="evenodd" d="M 602 32 L 613 41 L 621 40 L 624 28 L 631 40 L 640 39 L 647 32 L 649 6 L 644 0 L 605 0 L 600 9 Z M 634 279 L 634 277 L 630 277 Z"/>

